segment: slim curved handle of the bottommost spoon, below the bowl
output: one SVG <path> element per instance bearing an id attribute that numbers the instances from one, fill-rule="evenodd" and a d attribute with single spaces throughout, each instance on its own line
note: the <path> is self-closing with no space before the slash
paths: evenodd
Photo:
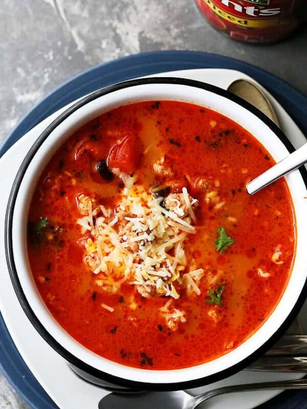
<path id="1" fill-rule="evenodd" d="M 213 398 L 217 395 L 224 395 L 226 393 L 237 392 L 252 392 L 252 391 L 269 391 L 269 390 L 289 390 L 289 389 L 307 389 L 307 379 L 283 380 L 274 382 L 260 382 L 260 383 L 244 383 L 240 385 L 230 385 L 227 387 L 213 389 L 201 395 L 195 396 L 193 399 L 193 406 L 195 408 L 201 402 Z"/>

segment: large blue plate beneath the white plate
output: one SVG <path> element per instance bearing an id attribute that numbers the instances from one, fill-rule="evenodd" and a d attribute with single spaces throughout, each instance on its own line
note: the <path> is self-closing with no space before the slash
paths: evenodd
<path id="1" fill-rule="evenodd" d="M 21 119 L 0 149 L 0 157 L 19 138 L 51 113 L 85 94 L 134 77 L 165 71 L 224 68 L 241 71 L 260 84 L 288 111 L 307 134 L 307 97 L 291 85 L 257 67 L 232 58 L 193 51 L 159 51 L 137 54 L 99 65 L 61 85 Z M 0 315 L 0 369 L 14 388 L 35 409 L 56 409 L 56 404 L 32 375 L 17 351 Z M 284 392 L 259 409 L 307 409 L 307 392 Z M 64 408 L 63 408 L 64 409 Z"/>

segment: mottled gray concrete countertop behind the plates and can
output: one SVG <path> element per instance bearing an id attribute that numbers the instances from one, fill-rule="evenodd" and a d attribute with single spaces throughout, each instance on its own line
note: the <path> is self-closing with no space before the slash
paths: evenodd
<path id="1" fill-rule="evenodd" d="M 213 30 L 193 0 L 2 0 L 0 144 L 62 82 L 144 51 L 185 49 L 242 59 L 307 94 L 307 14 L 303 26 L 287 41 L 260 47 Z M 0 375 L 0 409 L 26 407 Z"/>

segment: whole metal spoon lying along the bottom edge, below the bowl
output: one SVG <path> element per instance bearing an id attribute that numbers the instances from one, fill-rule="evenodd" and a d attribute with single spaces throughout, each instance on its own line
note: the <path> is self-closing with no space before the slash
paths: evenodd
<path id="1" fill-rule="evenodd" d="M 148 392 L 130 395 L 111 393 L 100 400 L 98 408 L 123 409 L 124 407 L 146 407 L 146 409 L 194 409 L 205 400 L 226 393 L 286 389 L 307 389 L 307 379 L 231 385 L 213 389 L 197 396 L 192 396 L 184 391 Z"/>

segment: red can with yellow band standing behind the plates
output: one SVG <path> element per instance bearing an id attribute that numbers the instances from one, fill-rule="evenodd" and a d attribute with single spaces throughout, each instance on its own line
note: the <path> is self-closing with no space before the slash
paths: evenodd
<path id="1" fill-rule="evenodd" d="M 301 0 L 195 0 L 215 29 L 239 41 L 272 43 L 299 25 Z"/>

